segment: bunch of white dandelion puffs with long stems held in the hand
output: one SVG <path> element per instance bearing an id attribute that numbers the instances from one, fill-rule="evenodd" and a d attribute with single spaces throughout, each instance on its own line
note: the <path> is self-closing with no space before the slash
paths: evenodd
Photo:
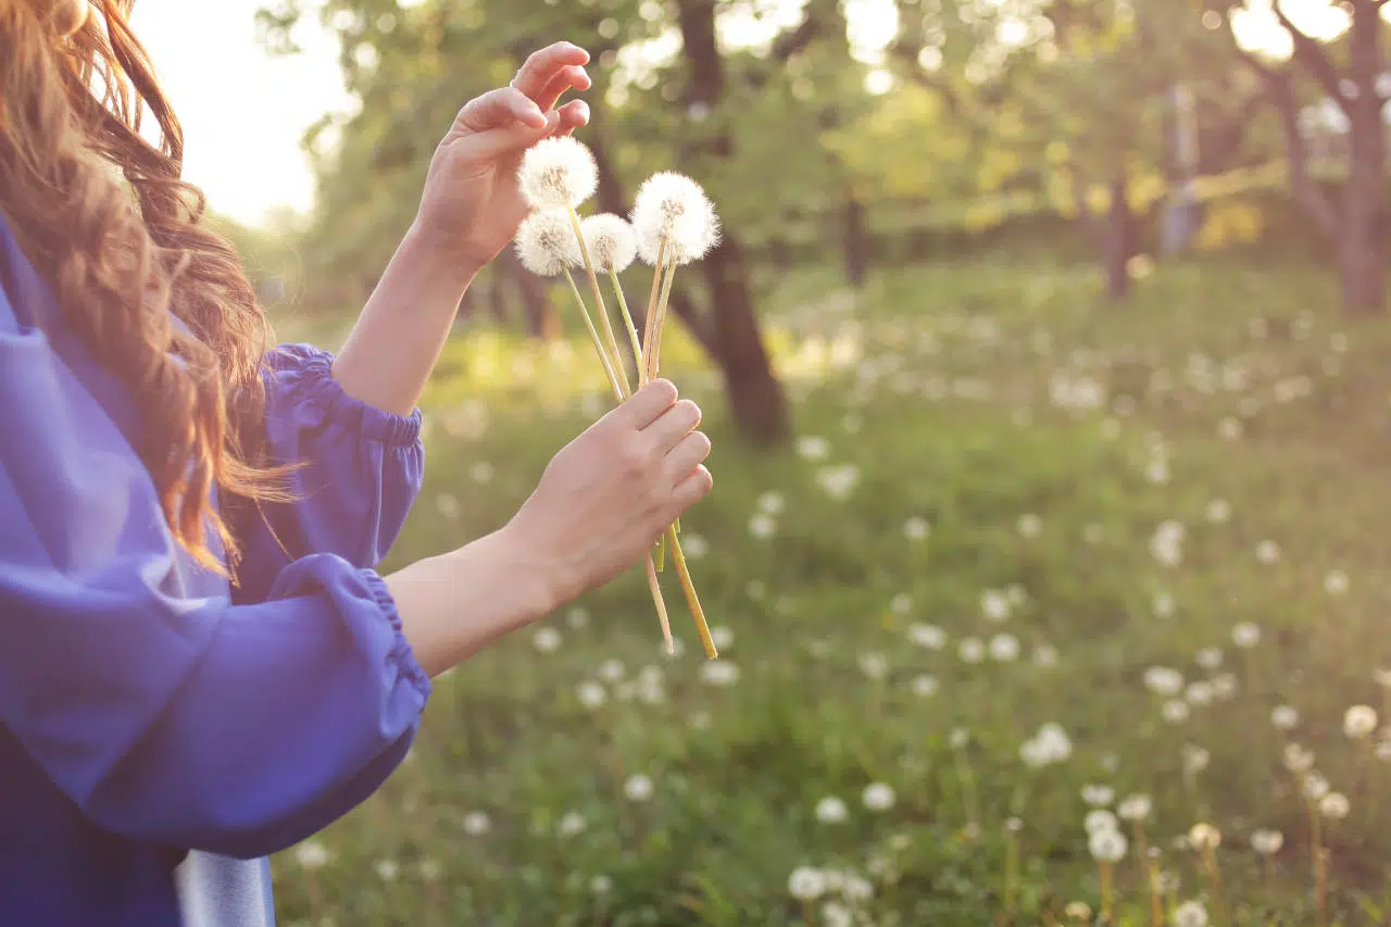
<path id="1" fill-rule="evenodd" d="M 517 181 L 523 198 L 534 210 L 517 228 L 517 255 L 523 266 L 534 274 L 565 277 L 574 303 L 584 316 L 584 324 L 613 391 L 613 401 L 622 402 L 636 388 L 658 376 L 666 303 L 676 267 L 700 260 L 719 241 L 719 219 L 715 216 L 715 207 L 696 181 L 664 171 L 650 177 L 638 189 L 632 221 L 612 213 L 580 219 L 576 207 L 598 188 L 598 170 L 590 149 L 570 136 L 542 139 L 530 148 L 522 157 Z M 637 326 L 633 324 L 618 277 L 638 258 L 652 267 L 652 288 L 647 298 L 647 315 L 643 316 L 641 338 Z M 588 276 L 590 295 L 594 301 L 593 313 L 570 274 L 572 267 L 580 266 Z M 629 384 L 627 366 L 604 302 L 601 274 L 608 277 L 627 328 L 629 345 L 637 366 L 636 387 Z M 715 650 L 709 626 L 705 624 L 705 612 L 691 583 L 686 555 L 682 553 L 679 521 L 666 529 L 654 551 L 647 554 L 645 564 L 647 583 L 662 625 L 666 651 L 676 650 L 658 580 L 666 548 L 670 548 L 672 562 L 676 565 L 682 592 L 686 593 L 686 603 L 696 619 L 705 656 L 714 660 L 719 653 Z"/>

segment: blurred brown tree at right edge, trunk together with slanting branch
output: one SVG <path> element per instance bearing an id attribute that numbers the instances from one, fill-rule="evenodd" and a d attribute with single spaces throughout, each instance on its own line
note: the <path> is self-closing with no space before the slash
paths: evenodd
<path id="1" fill-rule="evenodd" d="M 1206 4 L 1209 17 L 1224 28 L 1228 49 L 1256 75 L 1280 117 L 1289 189 L 1337 251 L 1344 309 L 1349 313 L 1383 312 L 1384 114 L 1391 99 L 1381 52 L 1387 0 L 1303 4 L 1306 21 L 1317 19 L 1314 14 L 1319 13 L 1324 14 L 1323 21 L 1344 19 L 1344 28 L 1327 40 L 1301 28 L 1289 11 L 1292 4 L 1285 0 L 1264 4 L 1288 39 L 1288 58 L 1278 47 L 1246 47 L 1241 43 L 1239 18 L 1256 15 L 1257 4 L 1251 0 L 1206 0 Z M 1301 120 L 1305 106 L 1310 103 L 1333 107 L 1346 129 L 1345 166 L 1340 171 L 1345 178 L 1341 202 L 1330 198 L 1310 166 Z"/>

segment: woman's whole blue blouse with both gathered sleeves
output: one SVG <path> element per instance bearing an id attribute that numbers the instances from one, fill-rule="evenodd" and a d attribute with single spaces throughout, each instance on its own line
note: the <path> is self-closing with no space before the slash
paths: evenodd
<path id="1" fill-rule="evenodd" d="M 0 267 L 0 924 L 271 924 L 266 856 L 371 795 L 430 696 L 373 571 L 420 412 L 273 351 L 270 447 L 312 464 L 239 536 L 234 592 L 171 539 L 129 391 L 3 221 Z"/>

